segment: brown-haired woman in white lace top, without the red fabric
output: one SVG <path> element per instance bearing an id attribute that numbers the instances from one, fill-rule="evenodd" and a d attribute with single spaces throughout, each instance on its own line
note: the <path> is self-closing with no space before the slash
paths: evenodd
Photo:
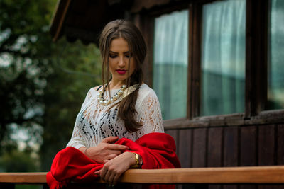
<path id="1" fill-rule="evenodd" d="M 99 49 L 106 84 L 89 90 L 67 147 L 105 163 L 97 173 L 113 185 L 121 173 L 136 165 L 136 154 L 122 153 L 128 147 L 112 143 L 164 132 L 163 120 L 155 92 L 142 81 L 146 44 L 136 25 L 123 20 L 108 23 Z"/>

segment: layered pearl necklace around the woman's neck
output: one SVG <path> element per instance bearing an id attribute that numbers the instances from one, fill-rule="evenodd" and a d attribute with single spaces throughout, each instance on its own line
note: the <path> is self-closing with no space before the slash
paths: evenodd
<path id="1" fill-rule="evenodd" d="M 105 87 L 107 88 L 107 87 Z M 117 91 L 117 93 L 111 97 L 109 100 L 108 99 L 104 99 L 104 92 L 105 90 L 103 88 L 99 89 L 99 93 L 97 94 L 97 100 L 100 104 L 102 105 L 109 105 L 111 103 L 114 103 L 114 101 L 116 101 L 117 99 L 121 98 L 121 100 L 123 98 L 125 98 L 126 96 L 128 96 L 129 94 L 131 94 L 133 91 L 135 91 L 137 88 L 139 88 L 138 84 L 135 84 L 133 86 L 129 86 L 129 88 L 126 88 L 126 85 L 121 86 L 121 88 L 119 88 L 119 91 Z"/>

